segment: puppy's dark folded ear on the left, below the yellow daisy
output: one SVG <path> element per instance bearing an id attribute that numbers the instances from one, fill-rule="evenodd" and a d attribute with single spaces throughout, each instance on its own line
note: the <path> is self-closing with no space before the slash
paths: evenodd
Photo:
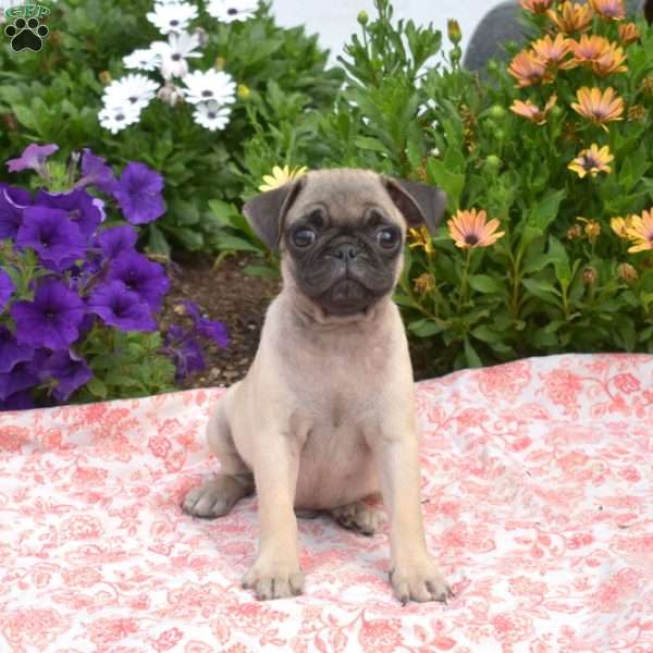
<path id="1" fill-rule="evenodd" d="M 306 184 L 306 176 L 261 193 L 245 202 L 243 213 L 256 235 L 272 250 L 279 249 L 286 213 Z"/>

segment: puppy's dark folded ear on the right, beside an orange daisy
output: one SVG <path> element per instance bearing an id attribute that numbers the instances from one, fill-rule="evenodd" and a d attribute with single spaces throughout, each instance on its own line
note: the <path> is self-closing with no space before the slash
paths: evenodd
<path id="1" fill-rule="evenodd" d="M 431 234 L 435 234 L 446 206 L 446 194 L 435 186 L 419 182 L 386 176 L 383 176 L 382 181 L 408 226 L 426 224 Z"/>

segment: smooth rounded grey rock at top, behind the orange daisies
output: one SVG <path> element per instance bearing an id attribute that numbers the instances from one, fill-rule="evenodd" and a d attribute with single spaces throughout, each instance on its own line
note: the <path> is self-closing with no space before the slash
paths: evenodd
<path id="1" fill-rule="evenodd" d="M 653 0 L 626 0 L 626 8 L 630 15 L 643 12 L 646 20 L 653 22 Z M 463 65 L 471 71 L 481 72 L 492 58 L 506 60 L 505 41 L 514 40 L 518 44 L 525 41 L 523 28 L 517 21 L 520 11 L 515 0 L 502 2 L 489 11 L 471 36 Z"/>

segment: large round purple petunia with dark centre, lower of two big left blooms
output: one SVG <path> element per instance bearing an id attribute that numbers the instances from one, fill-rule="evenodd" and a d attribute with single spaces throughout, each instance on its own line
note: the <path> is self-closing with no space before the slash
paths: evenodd
<path id="1" fill-rule="evenodd" d="M 22 345 L 67 349 L 79 335 L 84 303 L 61 281 L 46 279 L 33 301 L 14 301 L 11 316 Z"/>

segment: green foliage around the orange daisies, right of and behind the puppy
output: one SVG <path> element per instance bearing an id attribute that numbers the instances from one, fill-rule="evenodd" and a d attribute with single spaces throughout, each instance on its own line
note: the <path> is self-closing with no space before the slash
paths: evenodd
<path id="1" fill-rule="evenodd" d="M 393 23 L 389 0 L 375 7 L 345 48 L 346 83 L 318 138 L 268 132 L 270 156 L 256 152 L 267 169 L 369 168 L 446 190 L 445 220 L 476 208 L 500 221 L 505 235 L 490 247 L 456 247 L 445 224 L 409 238 L 395 299 L 409 333 L 429 340 L 433 372 L 562 352 L 653 353 L 652 251 L 628 252 L 632 243 L 611 229 L 653 202 L 653 29 L 638 22 L 639 41 L 623 46 L 627 72 L 576 67 L 518 88 L 505 64 L 491 62 L 483 82 L 460 69 L 456 42 L 438 58 L 440 33 Z M 543 16 L 526 23 L 540 37 L 553 32 Z M 591 34 L 617 41 L 617 27 L 595 16 Z M 604 131 L 576 113 L 581 86 L 615 88 L 624 120 Z M 543 124 L 510 111 L 515 100 L 543 108 L 553 93 Z M 609 147 L 612 171 L 580 178 L 568 164 L 592 144 Z"/>

